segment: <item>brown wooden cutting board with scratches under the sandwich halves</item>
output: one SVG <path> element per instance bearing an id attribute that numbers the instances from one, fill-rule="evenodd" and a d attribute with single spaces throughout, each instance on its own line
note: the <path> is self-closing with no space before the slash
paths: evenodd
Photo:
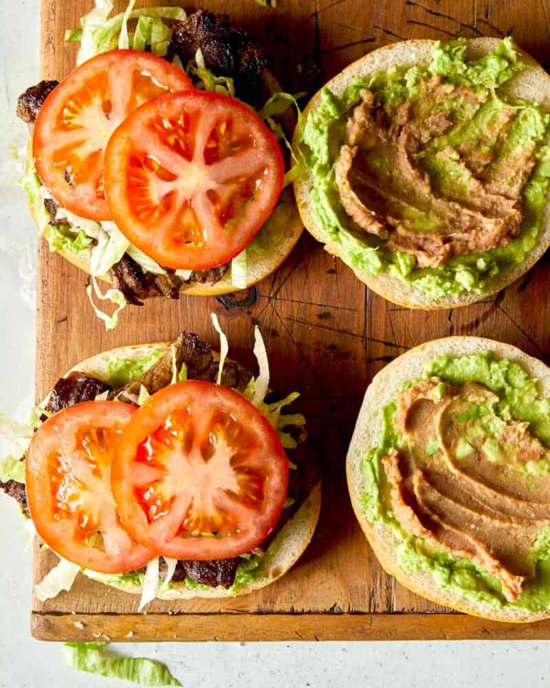
<path id="1" fill-rule="evenodd" d="M 204 4 L 230 12 L 236 25 L 263 41 L 272 71 L 290 92 L 315 92 L 365 52 L 401 39 L 513 32 L 543 65 L 550 47 L 550 0 L 278 0 L 276 10 L 254 0 Z M 63 35 L 90 7 L 91 0 L 42 0 L 43 77 L 62 78 L 74 67 L 76 46 L 64 45 Z M 311 546 L 293 570 L 264 590 L 221 602 L 155 601 L 147 614 L 137 614 L 136 596 L 79 576 L 70 592 L 45 603 L 34 600 L 34 636 L 55 641 L 550 638 L 550 623 L 498 624 L 455 614 L 396 583 L 380 568 L 355 522 L 344 475 L 366 385 L 409 347 L 476 334 L 547 361 L 549 277 L 544 257 L 495 299 L 457 310 L 412 312 L 369 292 L 305 233 L 285 264 L 250 292 L 248 305 L 204 297 L 153 299 L 142 308 L 127 308 L 119 327 L 106 332 L 87 302 L 87 276 L 39 241 L 37 399 L 69 367 L 115 346 L 166 340 L 180 330 L 216 344 L 210 312 L 218 314 L 232 356 L 254 365 L 252 330 L 258 323 L 274 388 L 302 392 L 298 406 L 307 416 L 325 494 Z M 35 581 L 53 560 L 47 552 L 36 553 Z"/>

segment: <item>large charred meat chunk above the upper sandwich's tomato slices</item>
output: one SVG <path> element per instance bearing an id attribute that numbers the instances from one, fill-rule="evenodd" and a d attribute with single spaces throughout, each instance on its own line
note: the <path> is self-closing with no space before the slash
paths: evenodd
<path id="1" fill-rule="evenodd" d="M 185 65 L 198 48 L 210 71 L 217 76 L 231 76 L 237 96 L 256 103 L 260 75 L 267 64 L 258 41 L 234 28 L 227 14 L 198 10 L 175 25 L 168 56 L 177 54 Z"/>

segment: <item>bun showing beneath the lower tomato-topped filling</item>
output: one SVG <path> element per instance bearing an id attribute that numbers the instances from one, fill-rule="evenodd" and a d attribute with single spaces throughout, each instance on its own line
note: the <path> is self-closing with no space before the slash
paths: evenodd
<path id="1" fill-rule="evenodd" d="M 113 358 L 128 358 L 133 360 L 146 356 L 153 349 L 164 348 L 168 349 L 170 343 L 150 343 L 137 344 L 132 346 L 123 346 L 113 349 L 111 351 L 102 352 L 91 358 L 87 358 L 82 363 L 74 366 L 72 370 L 93 375 L 102 380 L 109 380 L 109 363 Z M 70 371 L 69 371 L 70 372 Z M 43 404 L 47 402 L 47 398 Z M 265 588 L 265 585 L 273 583 L 281 578 L 292 566 L 298 561 L 303 554 L 305 548 L 309 545 L 311 538 L 314 535 L 315 528 L 319 519 L 321 508 L 321 487 L 317 484 L 305 502 L 300 506 L 296 514 L 281 528 L 281 531 L 276 535 L 267 552 L 264 555 L 265 565 L 263 568 L 263 575 L 254 581 L 242 585 L 237 590 L 237 595 L 245 595 L 253 590 Z M 93 572 L 86 572 L 89 578 L 105 583 L 104 577 L 100 574 L 96 577 Z M 113 588 L 118 588 L 124 592 L 131 592 L 133 594 L 141 594 L 141 585 L 132 585 L 131 583 L 106 583 L 112 585 Z M 172 583 L 170 590 L 157 591 L 157 598 L 159 599 L 192 599 L 194 597 L 232 597 L 234 592 L 229 592 L 225 588 L 209 588 L 208 590 L 188 588 L 185 583 Z"/>

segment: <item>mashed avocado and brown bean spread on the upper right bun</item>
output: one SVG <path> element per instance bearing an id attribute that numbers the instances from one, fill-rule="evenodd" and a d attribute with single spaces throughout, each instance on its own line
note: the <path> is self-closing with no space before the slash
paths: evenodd
<path id="1" fill-rule="evenodd" d="M 325 88 L 298 144 L 325 242 L 434 299 L 489 291 L 535 246 L 546 204 L 550 115 L 507 89 L 529 68 L 509 37 L 472 60 L 464 40 L 438 42 L 428 66 Z"/>

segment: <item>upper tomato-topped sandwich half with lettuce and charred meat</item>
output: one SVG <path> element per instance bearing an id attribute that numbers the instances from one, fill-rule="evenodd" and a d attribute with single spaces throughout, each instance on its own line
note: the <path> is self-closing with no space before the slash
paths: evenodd
<path id="1" fill-rule="evenodd" d="M 127 303 L 248 288 L 302 231 L 285 188 L 296 101 L 259 42 L 225 14 L 131 1 L 110 17 L 112 4 L 67 32 L 76 69 L 17 107 L 32 215 L 50 249 L 91 275 L 92 303 L 117 306 L 94 306 L 107 327 Z"/>

